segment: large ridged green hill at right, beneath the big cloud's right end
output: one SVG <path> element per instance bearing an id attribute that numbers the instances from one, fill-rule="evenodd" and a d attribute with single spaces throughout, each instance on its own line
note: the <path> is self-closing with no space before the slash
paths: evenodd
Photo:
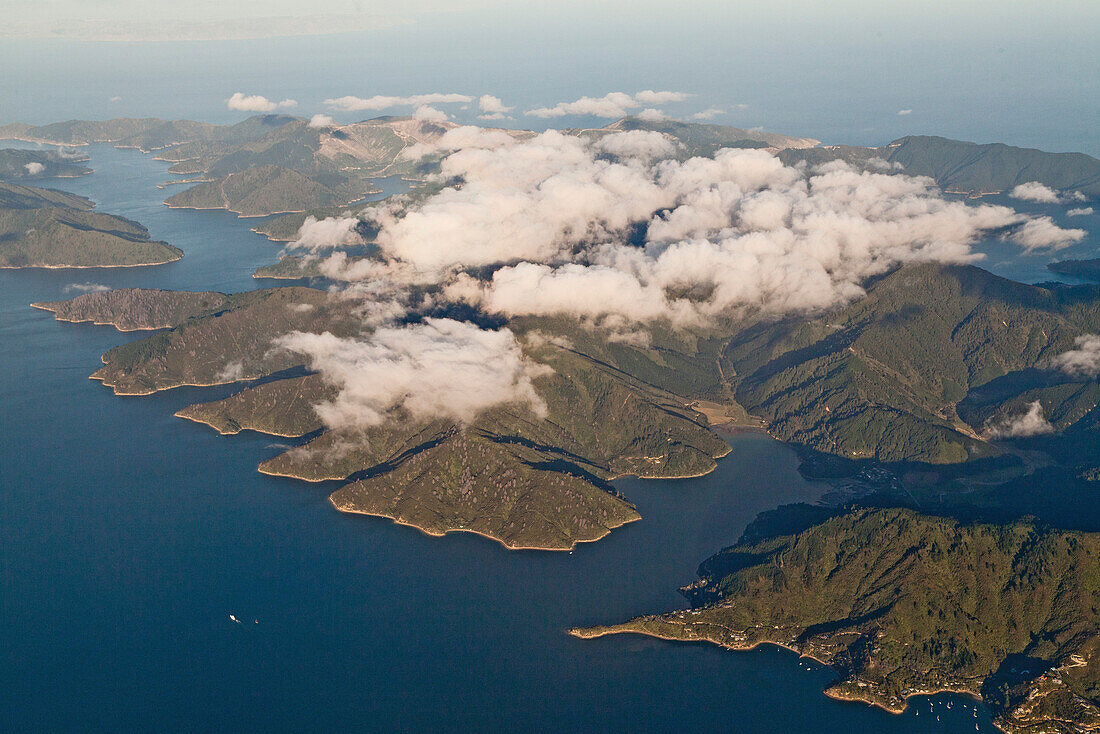
<path id="1" fill-rule="evenodd" d="M 989 456 L 958 404 L 1100 331 L 1100 289 L 1047 289 L 971 266 L 915 265 L 811 320 L 761 324 L 725 350 L 736 399 L 781 440 L 849 459 Z M 971 419 L 972 416 L 971 416 Z"/>

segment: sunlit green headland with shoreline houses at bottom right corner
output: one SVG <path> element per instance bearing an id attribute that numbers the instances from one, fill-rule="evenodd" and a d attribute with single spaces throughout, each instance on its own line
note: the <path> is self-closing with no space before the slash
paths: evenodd
<path id="1" fill-rule="evenodd" d="M 572 633 L 774 643 L 833 666 L 834 698 L 901 711 L 954 691 L 1011 734 L 1100 728 L 1100 534 L 792 510 L 809 527 L 765 516 L 704 561 L 683 589 L 690 611 Z"/>

